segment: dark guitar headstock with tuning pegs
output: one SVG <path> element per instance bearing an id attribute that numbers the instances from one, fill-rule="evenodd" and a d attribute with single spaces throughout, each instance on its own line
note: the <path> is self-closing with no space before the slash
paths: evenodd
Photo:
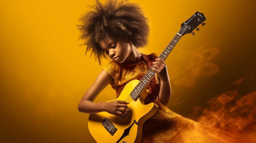
<path id="1" fill-rule="evenodd" d="M 204 17 L 203 13 L 199 13 L 198 11 L 196 13 L 194 13 L 191 18 L 189 18 L 188 20 L 186 20 L 184 23 L 181 24 L 181 29 L 178 32 L 180 35 L 185 35 L 187 33 L 192 33 L 192 35 L 195 35 L 195 33 L 193 32 L 193 30 L 196 28 L 196 31 L 200 30 L 199 28 L 197 28 L 198 25 L 202 24 L 202 26 L 205 25 L 204 20 L 206 20 L 206 18 Z"/>

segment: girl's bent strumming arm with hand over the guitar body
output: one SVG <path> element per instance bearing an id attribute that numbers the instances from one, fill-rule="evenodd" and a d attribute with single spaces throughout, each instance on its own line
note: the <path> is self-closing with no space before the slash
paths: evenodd
<path id="1" fill-rule="evenodd" d="M 83 95 L 78 110 L 89 114 L 106 111 L 110 114 L 124 115 L 128 109 L 128 102 L 126 101 L 93 102 L 99 93 L 113 81 L 114 79 L 105 70 L 102 70 L 92 86 Z"/>

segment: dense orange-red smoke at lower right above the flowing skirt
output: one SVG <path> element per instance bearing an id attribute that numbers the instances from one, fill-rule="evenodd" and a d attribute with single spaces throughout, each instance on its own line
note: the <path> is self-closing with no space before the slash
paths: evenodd
<path id="1" fill-rule="evenodd" d="M 239 79 L 231 88 L 243 82 Z M 237 89 L 212 98 L 206 107 L 195 107 L 189 117 L 209 127 L 256 141 L 256 91 L 240 95 Z"/>

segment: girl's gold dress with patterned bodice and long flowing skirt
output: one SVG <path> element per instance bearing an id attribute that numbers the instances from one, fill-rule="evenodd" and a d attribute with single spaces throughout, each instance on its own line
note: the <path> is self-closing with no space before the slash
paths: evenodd
<path id="1" fill-rule="evenodd" d="M 152 59 L 158 57 L 155 53 L 148 56 Z M 141 80 L 148 71 L 148 64 L 145 60 L 130 65 L 110 61 L 103 70 L 115 79 L 111 86 L 119 97 L 129 81 Z M 153 82 L 157 84 L 157 77 Z M 157 100 L 157 94 L 148 95 L 145 100 L 155 102 L 158 110 L 144 123 L 141 143 L 248 143 L 233 134 L 209 128 L 171 111 Z"/>

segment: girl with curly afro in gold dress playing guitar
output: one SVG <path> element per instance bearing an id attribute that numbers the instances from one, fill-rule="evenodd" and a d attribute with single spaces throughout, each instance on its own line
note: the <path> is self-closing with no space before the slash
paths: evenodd
<path id="1" fill-rule="evenodd" d="M 148 23 L 136 4 L 111 0 L 103 6 L 97 0 L 94 11 L 82 15 L 79 26 L 86 51 L 92 51 L 101 64 L 106 55 L 112 59 L 99 73 L 97 79 L 83 95 L 78 109 L 84 113 L 106 111 L 124 116 L 129 102 L 109 101 L 94 103 L 94 99 L 110 84 L 117 97 L 124 86 L 133 79 L 141 80 L 153 64 L 155 77 L 150 81 L 145 104 L 154 102 L 157 112 L 145 121 L 141 143 L 220 143 L 237 140 L 231 135 L 201 125 L 171 111 L 165 105 L 171 97 L 171 84 L 165 62 L 152 53 L 144 55 L 137 47 L 147 44 Z M 192 132 L 193 131 L 193 132 Z M 240 141 L 238 141 L 240 142 Z"/>

